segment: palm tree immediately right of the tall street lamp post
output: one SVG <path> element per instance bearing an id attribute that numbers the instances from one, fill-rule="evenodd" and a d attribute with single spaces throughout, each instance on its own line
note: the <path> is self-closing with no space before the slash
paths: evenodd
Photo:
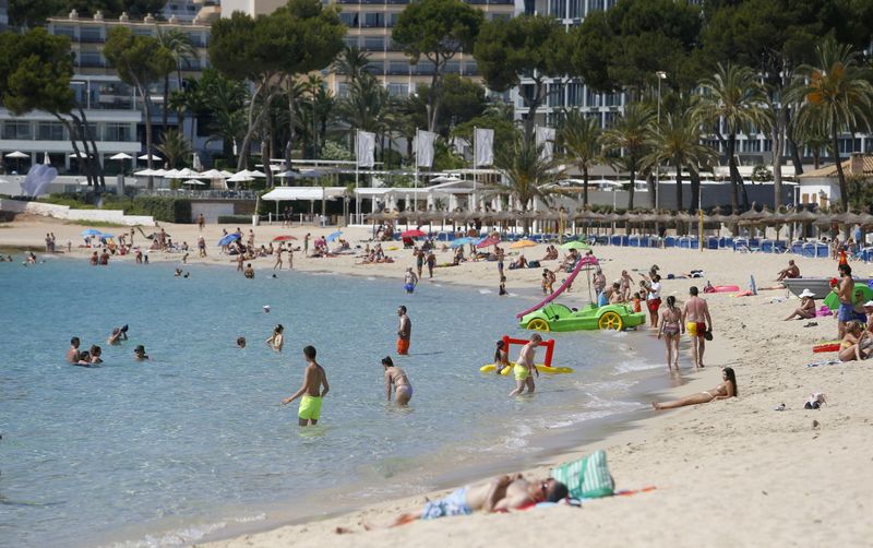
<path id="1" fill-rule="evenodd" d="M 657 166 L 662 160 L 668 160 L 673 164 L 677 211 L 684 209 L 682 168 L 687 167 L 690 174 L 696 174 L 699 172 L 701 165 L 708 164 L 717 157 L 713 148 L 701 143 L 702 139 L 701 122 L 689 110 L 683 114 L 668 112 L 661 119 L 660 127 L 649 134 L 648 144 L 651 152 L 644 158 L 644 163 Z M 690 211 L 696 207 L 699 191 L 699 178 L 693 177 Z"/>

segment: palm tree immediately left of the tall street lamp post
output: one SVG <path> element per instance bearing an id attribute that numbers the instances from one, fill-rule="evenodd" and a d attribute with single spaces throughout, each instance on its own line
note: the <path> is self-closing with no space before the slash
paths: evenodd
<path id="1" fill-rule="evenodd" d="M 629 171 L 631 188 L 629 189 L 627 209 L 634 209 L 634 186 L 636 174 L 645 164 L 643 157 L 648 150 L 651 120 L 655 112 L 651 107 L 643 103 L 631 103 L 624 107 L 624 112 L 615 119 L 611 128 L 603 131 L 603 147 L 621 154 L 609 158 L 609 162 Z"/>

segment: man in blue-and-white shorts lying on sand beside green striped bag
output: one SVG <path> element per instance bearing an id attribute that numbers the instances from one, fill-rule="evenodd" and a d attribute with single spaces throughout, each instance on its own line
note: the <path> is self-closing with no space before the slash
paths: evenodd
<path id="1" fill-rule="evenodd" d="M 516 510 L 546 501 L 558 502 L 566 496 L 566 486 L 552 478 L 528 481 L 521 474 L 501 476 L 485 484 L 462 487 L 443 499 L 429 501 L 421 510 L 400 514 L 388 527 L 417 520 Z"/>

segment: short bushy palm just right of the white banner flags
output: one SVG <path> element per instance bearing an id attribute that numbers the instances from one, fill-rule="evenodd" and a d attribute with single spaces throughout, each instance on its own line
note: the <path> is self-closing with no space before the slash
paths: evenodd
<path id="1" fill-rule="evenodd" d="M 557 159 L 543 159 L 542 146 L 525 142 L 522 138 L 516 138 L 511 145 L 498 148 L 494 167 L 502 175 L 501 182 L 489 186 L 488 190 L 514 196 L 523 211 L 528 209 L 535 198 L 548 204 L 549 196 L 554 192 L 553 183 L 564 175 Z M 530 219 L 525 218 L 525 231 L 529 229 Z"/>

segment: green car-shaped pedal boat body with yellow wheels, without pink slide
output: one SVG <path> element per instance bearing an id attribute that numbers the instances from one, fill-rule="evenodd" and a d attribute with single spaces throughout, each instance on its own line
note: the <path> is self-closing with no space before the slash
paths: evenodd
<path id="1" fill-rule="evenodd" d="M 597 307 L 587 305 L 572 310 L 552 302 L 522 317 L 523 329 L 536 331 L 626 330 L 646 323 L 645 312 L 634 312 L 625 305 Z"/>

